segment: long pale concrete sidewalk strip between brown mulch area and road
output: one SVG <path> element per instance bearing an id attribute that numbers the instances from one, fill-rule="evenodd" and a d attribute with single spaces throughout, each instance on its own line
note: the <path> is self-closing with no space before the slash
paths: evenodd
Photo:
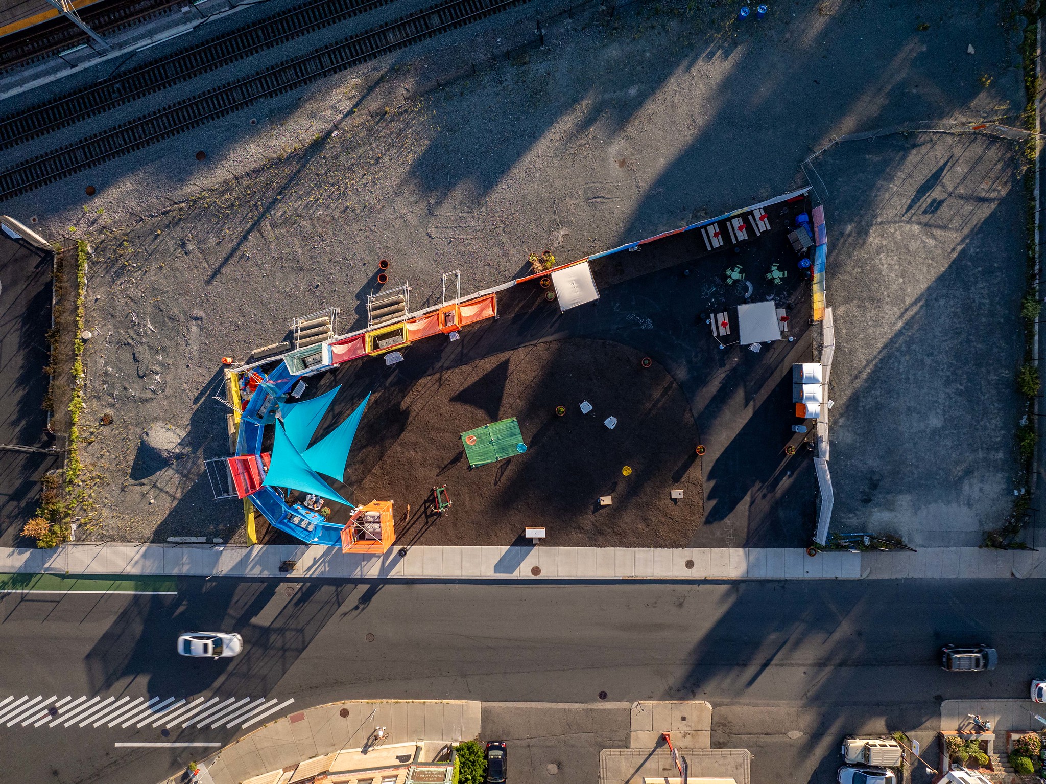
<path id="1" fill-rule="evenodd" d="M 861 556 L 803 550 L 433 547 L 400 556 L 256 544 L 65 544 L 0 548 L 0 573 L 454 580 L 856 580 Z M 293 572 L 280 564 L 294 561 Z"/>

